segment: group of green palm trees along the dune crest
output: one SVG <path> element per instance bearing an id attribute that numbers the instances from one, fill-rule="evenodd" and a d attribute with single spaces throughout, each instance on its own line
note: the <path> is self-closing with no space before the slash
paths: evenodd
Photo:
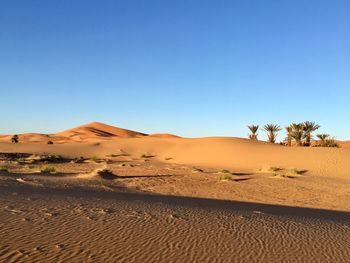
<path id="1" fill-rule="evenodd" d="M 302 123 L 292 123 L 291 125 L 285 127 L 286 138 L 281 144 L 286 146 L 311 146 L 313 139 L 313 133 L 318 130 L 321 126 L 312 121 L 305 121 Z M 248 125 L 250 130 L 249 139 L 258 140 L 258 129 L 259 125 Z M 268 142 L 275 143 L 278 132 L 282 130 L 279 125 L 276 124 L 266 124 L 262 128 L 267 132 Z M 319 141 L 314 144 L 314 146 L 321 147 L 338 147 L 334 139 L 332 139 L 328 134 L 318 134 L 317 138 Z"/>

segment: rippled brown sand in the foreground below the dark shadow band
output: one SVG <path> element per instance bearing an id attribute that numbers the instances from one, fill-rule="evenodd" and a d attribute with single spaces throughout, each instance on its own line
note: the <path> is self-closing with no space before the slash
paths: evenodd
<path id="1" fill-rule="evenodd" d="M 46 198 L 46 199 L 45 199 Z M 344 222 L 96 198 L 7 195 L 1 262 L 347 262 Z"/>

